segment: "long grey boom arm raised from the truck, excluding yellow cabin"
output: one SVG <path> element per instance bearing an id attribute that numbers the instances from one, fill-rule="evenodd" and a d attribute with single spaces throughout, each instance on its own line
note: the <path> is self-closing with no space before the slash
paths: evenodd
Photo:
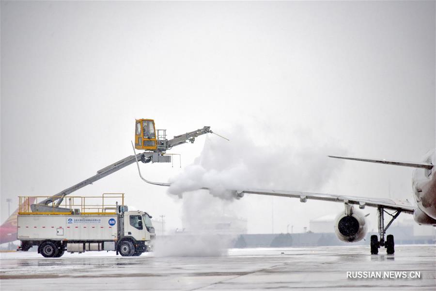
<path id="1" fill-rule="evenodd" d="M 97 174 L 94 176 L 87 178 L 67 189 L 62 190 L 61 192 L 41 201 L 37 204 L 31 205 L 31 210 L 33 212 L 51 212 L 53 211 L 53 207 L 56 207 L 56 211 L 62 211 L 62 208 L 59 208 L 61 205 L 63 198 L 71 194 L 89 184 L 92 184 L 95 181 L 98 181 L 101 178 L 104 178 L 106 176 L 109 176 L 112 173 L 117 172 L 118 170 L 121 170 L 122 168 L 138 161 L 147 163 L 147 162 L 171 162 L 171 156 L 163 156 L 164 152 L 168 149 L 171 149 L 173 146 L 178 146 L 185 144 L 187 141 L 190 143 L 193 143 L 195 138 L 197 136 L 206 134 L 206 133 L 212 133 L 212 130 L 210 130 L 210 126 L 205 126 L 202 129 L 197 129 L 191 132 L 187 132 L 181 135 L 174 136 L 171 140 L 159 140 L 159 143 L 162 145 L 158 147 L 156 151 L 151 152 L 143 152 L 140 154 L 128 156 L 118 162 L 112 163 L 107 167 L 104 167 L 101 170 L 97 171 Z M 48 206 L 48 204 L 54 203 L 54 206 Z"/>

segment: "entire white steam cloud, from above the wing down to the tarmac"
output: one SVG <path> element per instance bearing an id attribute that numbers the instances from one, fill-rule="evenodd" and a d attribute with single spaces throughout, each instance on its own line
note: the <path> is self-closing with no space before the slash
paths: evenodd
<path id="1" fill-rule="evenodd" d="M 327 155 L 345 154 L 341 146 L 317 140 L 311 131 L 290 133 L 291 141 L 266 139 L 244 130 L 227 134 L 230 142 L 208 136 L 202 153 L 170 179 L 169 194 L 183 203 L 186 235 L 156 246 L 161 256 L 219 256 L 235 238 L 220 236 L 214 224 L 234 200 L 230 190 L 247 188 L 320 191 L 337 170 Z M 207 187 L 210 191 L 200 190 Z M 210 192 L 211 195 L 207 194 Z M 246 199 L 244 197 L 243 199 Z M 248 202 L 247 202 L 248 203 Z M 227 210 L 227 215 L 228 210 Z"/>

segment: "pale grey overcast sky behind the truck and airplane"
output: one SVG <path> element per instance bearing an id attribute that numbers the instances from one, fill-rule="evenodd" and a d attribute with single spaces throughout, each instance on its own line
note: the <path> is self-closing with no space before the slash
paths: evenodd
<path id="1" fill-rule="evenodd" d="M 56 194 L 131 155 L 135 118 L 170 137 L 206 125 L 230 143 L 244 135 L 241 152 L 274 153 L 264 171 L 280 169 L 268 177 L 277 189 L 410 200 L 412 169 L 317 164 L 287 145 L 420 161 L 435 147 L 435 78 L 435 1 L 1 1 L 1 221 L 6 198 L 15 210 L 19 195 Z M 202 136 L 171 152 L 185 167 L 207 139 L 228 143 Z M 157 181 L 183 171 L 141 168 Z M 288 189 L 296 171 L 324 180 Z M 182 226 L 182 201 L 134 165 L 77 194 L 108 192 Z M 272 205 L 276 232 L 343 209 L 254 195 L 225 207 L 269 233 Z"/>

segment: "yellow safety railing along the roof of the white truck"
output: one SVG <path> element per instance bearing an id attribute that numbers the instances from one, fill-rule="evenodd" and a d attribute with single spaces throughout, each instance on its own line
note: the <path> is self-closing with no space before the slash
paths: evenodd
<path id="1" fill-rule="evenodd" d="M 68 214 L 75 211 L 76 214 L 116 214 L 117 205 L 124 205 L 124 193 L 104 193 L 102 196 L 65 196 L 59 206 L 56 206 L 55 201 L 46 205 L 51 208 L 50 210 L 32 212 L 31 204 L 38 204 L 38 200 L 43 201 L 50 197 L 53 200 L 62 198 L 62 196 L 18 196 L 18 214 Z M 96 203 L 98 200 L 101 203 Z"/>

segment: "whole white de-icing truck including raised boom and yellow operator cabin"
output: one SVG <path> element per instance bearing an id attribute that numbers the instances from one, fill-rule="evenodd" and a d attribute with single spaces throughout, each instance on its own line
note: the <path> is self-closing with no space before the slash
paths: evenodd
<path id="1" fill-rule="evenodd" d="M 17 239 L 21 246 L 17 250 L 28 251 L 36 245 L 38 253 L 46 258 L 61 257 L 65 250 L 71 253 L 110 250 L 122 256 L 139 256 L 149 251 L 155 238 L 151 216 L 143 211 L 128 211 L 124 194 L 118 197 L 122 199 L 121 204 L 117 202 L 111 206 L 108 199 L 115 198 L 111 194 L 99 197 L 103 200 L 100 205 L 85 203 L 92 197 L 66 196 L 134 162 L 171 162 L 167 150 L 193 143 L 196 137 L 206 133 L 214 132 L 205 126 L 167 139 L 166 129 L 156 130 L 153 119 L 137 119 L 134 149 L 144 152 L 135 152 L 135 155 L 110 164 L 94 176 L 39 202 L 38 197 L 19 197 Z M 35 202 L 31 204 L 29 201 Z"/>

